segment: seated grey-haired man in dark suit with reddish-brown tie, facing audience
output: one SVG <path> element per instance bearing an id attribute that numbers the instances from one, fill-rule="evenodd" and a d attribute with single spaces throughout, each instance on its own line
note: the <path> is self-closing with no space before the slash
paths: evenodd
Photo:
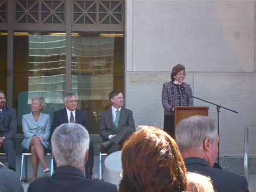
<path id="1" fill-rule="evenodd" d="M 53 113 L 53 123 L 52 123 L 52 132 L 56 129 L 57 126 L 63 123 L 78 123 L 84 127 L 86 127 L 89 132 L 89 124 L 87 119 L 87 114 L 83 111 L 80 111 L 77 108 L 77 100 L 76 95 L 72 92 L 69 92 L 64 97 L 64 103 L 66 105 L 65 109 L 55 111 Z M 94 152 L 93 152 L 93 144 L 90 141 L 89 144 L 89 157 L 86 162 L 86 177 L 88 179 L 92 179 L 93 175 L 93 164 L 94 164 Z M 56 163 L 54 161 L 54 169 L 56 169 Z"/>

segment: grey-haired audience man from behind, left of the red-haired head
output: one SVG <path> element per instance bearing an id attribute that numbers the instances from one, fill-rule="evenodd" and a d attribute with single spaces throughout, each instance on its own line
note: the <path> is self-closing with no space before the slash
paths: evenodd
<path id="1" fill-rule="evenodd" d="M 117 191 L 116 185 L 84 177 L 83 167 L 88 159 L 90 137 L 82 125 L 60 125 L 53 132 L 51 141 L 58 167 L 52 177 L 45 176 L 31 182 L 28 192 Z"/>

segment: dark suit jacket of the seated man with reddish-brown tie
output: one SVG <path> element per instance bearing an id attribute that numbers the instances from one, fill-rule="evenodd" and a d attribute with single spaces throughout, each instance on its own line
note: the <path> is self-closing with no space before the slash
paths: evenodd
<path id="1" fill-rule="evenodd" d="M 80 111 L 80 110 L 76 109 L 76 117 L 75 118 L 76 118 L 75 123 L 86 127 L 88 133 L 90 133 L 86 112 L 83 112 L 83 111 Z M 56 129 L 57 126 L 59 126 L 63 123 L 69 123 L 66 108 L 62 109 L 62 110 L 55 111 L 53 113 L 52 132 Z"/>

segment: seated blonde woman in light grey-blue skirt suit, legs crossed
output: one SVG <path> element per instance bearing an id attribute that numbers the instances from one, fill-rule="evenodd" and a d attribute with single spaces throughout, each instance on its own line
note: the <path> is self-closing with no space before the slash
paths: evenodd
<path id="1" fill-rule="evenodd" d="M 39 160 L 44 173 L 49 172 L 44 159 L 44 151 L 50 147 L 51 119 L 49 115 L 41 113 L 45 108 L 46 101 L 44 97 L 33 97 L 31 104 L 32 112 L 22 117 L 22 127 L 25 136 L 22 148 L 31 151 L 32 181 L 37 178 Z"/>

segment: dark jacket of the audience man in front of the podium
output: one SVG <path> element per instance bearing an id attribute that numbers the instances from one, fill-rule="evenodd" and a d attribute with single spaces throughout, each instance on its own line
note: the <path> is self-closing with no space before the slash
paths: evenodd
<path id="1" fill-rule="evenodd" d="M 209 163 L 199 157 L 189 157 L 184 159 L 188 172 L 199 173 L 210 177 L 214 190 L 218 192 L 239 192 L 249 191 L 245 177 L 227 172 L 226 170 L 214 168 Z"/>

